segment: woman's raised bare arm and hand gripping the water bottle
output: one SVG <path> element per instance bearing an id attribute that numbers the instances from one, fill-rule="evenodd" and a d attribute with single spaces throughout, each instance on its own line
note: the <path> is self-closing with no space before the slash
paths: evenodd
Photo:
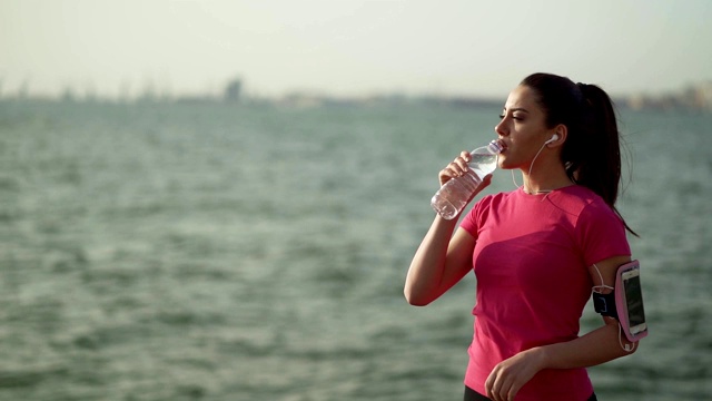
<path id="1" fill-rule="evenodd" d="M 467 170 L 471 155 L 461 153 L 453 163 L 441 170 L 441 185 Z M 484 189 L 492 179 L 487 175 L 479 184 L 473 197 Z M 403 291 L 412 305 L 424 306 L 437 300 L 447 290 L 461 281 L 472 270 L 472 252 L 475 238 L 466 231 L 458 228 L 457 218 L 446 221 L 435 216 L 421 246 L 415 253 Z"/>

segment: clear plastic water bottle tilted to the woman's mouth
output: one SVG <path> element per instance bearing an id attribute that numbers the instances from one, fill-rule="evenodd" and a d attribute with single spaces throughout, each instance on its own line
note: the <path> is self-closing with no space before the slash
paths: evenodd
<path id="1" fill-rule="evenodd" d="M 451 178 L 431 199 L 431 206 L 445 219 L 453 219 L 467 205 L 482 178 L 497 168 L 497 154 L 502 145 L 493 140 L 487 146 L 471 151 L 467 172 L 459 177 Z"/>

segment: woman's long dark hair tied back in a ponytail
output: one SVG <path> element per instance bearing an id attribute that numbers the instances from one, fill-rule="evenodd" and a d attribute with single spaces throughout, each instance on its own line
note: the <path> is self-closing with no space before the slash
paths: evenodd
<path id="1" fill-rule="evenodd" d="M 625 228 L 637 236 L 615 208 L 621 182 L 621 145 L 609 95 L 595 85 L 574 84 L 566 77 L 543 72 L 532 74 L 521 85 L 537 95 L 547 128 L 566 126 L 568 135 L 561 158 L 568 178 L 599 194 L 621 217 Z"/>

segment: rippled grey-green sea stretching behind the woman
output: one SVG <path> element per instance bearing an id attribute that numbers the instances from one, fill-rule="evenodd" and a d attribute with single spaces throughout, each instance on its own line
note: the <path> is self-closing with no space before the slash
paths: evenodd
<path id="1" fill-rule="evenodd" d="M 0 100 L 0 400 L 462 400 L 474 275 L 403 285 L 500 111 Z M 590 375 L 712 400 L 712 114 L 619 117 L 650 335 Z"/>

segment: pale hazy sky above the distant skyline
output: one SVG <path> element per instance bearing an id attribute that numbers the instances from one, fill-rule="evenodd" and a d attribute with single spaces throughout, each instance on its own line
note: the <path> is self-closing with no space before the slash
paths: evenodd
<path id="1" fill-rule="evenodd" d="M 506 98 L 550 71 L 611 94 L 712 80 L 712 0 L 0 0 L 0 90 Z"/>

